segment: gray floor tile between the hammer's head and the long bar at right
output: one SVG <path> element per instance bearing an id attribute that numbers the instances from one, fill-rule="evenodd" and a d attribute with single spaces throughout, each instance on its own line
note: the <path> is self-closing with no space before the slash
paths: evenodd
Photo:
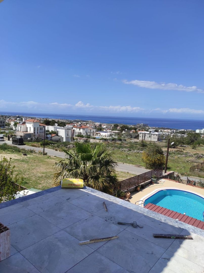
<path id="1" fill-rule="evenodd" d="M 137 223 L 139 225 L 143 225 L 143 228 L 139 227 L 134 228 L 133 226 L 127 227 L 126 230 L 141 236 L 148 241 L 159 245 L 160 247 L 164 247 L 167 249 L 175 239 L 162 239 L 162 238 L 154 238 L 153 233 L 162 233 L 162 234 L 180 234 L 182 232 L 181 228 L 174 227 L 173 225 L 167 224 L 165 222 L 161 222 L 155 218 L 150 216 L 141 217 Z"/>

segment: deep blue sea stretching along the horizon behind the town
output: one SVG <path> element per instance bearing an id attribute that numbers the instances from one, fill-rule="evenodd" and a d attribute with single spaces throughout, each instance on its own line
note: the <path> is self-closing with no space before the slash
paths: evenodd
<path id="1" fill-rule="evenodd" d="M 171 129 L 203 129 L 204 119 L 178 119 L 178 118 L 153 118 L 153 117 L 117 117 L 117 116 L 97 116 L 97 115 L 65 115 L 65 114 L 46 114 L 46 113 L 24 113 L 24 112 L 0 112 L 1 115 L 22 115 L 25 117 L 53 118 L 64 120 L 91 120 L 100 123 L 117 123 L 136 125 L 145 123 L 150 127 L 164 127 Z"/>

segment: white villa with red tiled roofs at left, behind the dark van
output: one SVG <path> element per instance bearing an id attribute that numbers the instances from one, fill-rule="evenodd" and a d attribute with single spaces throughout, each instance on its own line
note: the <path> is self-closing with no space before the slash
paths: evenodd
<path id="1" fill-rule="evenodd" d="M 17 124 L 16 137 L 23 139 L 43 139 L 45 124 L 39 120 L 29 119 Z"/>

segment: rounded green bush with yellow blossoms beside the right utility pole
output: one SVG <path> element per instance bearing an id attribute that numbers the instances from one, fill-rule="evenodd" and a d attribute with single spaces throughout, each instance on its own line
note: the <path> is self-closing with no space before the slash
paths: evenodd
<path id="1" fill-rule="evenodd" d="M 142 154 L 142 160 L 148 169 L 156 169 L 164 166 L 165 156 L 164 152 L 156 144 L 149 145 Z"/>

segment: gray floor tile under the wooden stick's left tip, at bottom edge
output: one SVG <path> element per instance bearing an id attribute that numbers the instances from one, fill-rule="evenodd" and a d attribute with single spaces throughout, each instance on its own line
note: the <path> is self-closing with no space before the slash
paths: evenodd
<path id="1" fill-rule="evenodd" d="M 42 273 L 64 273 L 92 252 L 63 230 L 21 251 Z"/>

